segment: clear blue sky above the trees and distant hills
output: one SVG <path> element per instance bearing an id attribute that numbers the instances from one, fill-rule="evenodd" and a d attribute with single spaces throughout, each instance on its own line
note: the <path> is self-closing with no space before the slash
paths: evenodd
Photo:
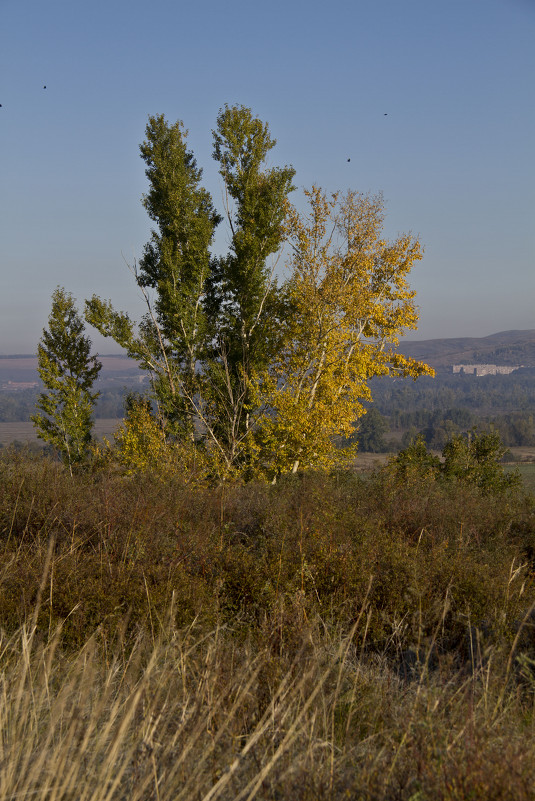
<path id="1" fill-rule="evenodd" d="M 141 317 L 148 116 L 184 122 L 221 209 L 226 103 L 298 206 L 381 191 L 386 236 L 420 238 L 408 339 L 535 328 L 535 0 L 0 0 L 0 30 L 0 353 L 36 351 L 58 285 Z"/>

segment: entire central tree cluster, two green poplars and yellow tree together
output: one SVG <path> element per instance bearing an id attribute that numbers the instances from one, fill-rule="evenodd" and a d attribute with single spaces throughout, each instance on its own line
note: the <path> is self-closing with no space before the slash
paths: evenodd
<path id="1" fill-rule="evenodd" d="M 288 200 L 294 170 L 266 168 L 275 140 L 250 109 L 225 106 L 213 137 L 226 255 L 210 254 L 220 217 L 182 123 L 151 117 L 144 204 L 158 231 L 133 268 L 147 314 L 136 327 L 94 296 L 86 320 L 150 371 L 168 438 L 189 437 L 220 474 L 274 478 L 335 464 L 333 440 L 352 433 L 372 376 L 432 374 L 396 350 L 418 319 L 407 275 L 420 243 L 381 238 L 380 195 L 339 200 L 314 187 L 301 215 Z M 287 241 L 279 286 L 274 269 Z"/>

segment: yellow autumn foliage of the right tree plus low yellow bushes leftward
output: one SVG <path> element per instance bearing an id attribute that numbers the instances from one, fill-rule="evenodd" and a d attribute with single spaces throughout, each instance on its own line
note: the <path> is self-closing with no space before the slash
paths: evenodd
<path id="1" fill-rule="evenodd" d="M 307 214 L 287 206 L 292 255 L 277 298 L 288 308 L 278 351 L 262 370 L 244 361 L 234 373 L 222 351 L 221 364 L 196 376 L 198 392 L 177 382 L 198 426 L 187 441 L 166 438 L 150 404 L 132 404 L 113 449 L 127 473 L 228 480 L 335 467 L 356 456 L 336 439 L 354 433 L 372 377 L 433 374 L 397 351 L 418 322 L 407 280 L 422 258 L 418 238 L 383 238 L 381 195 L 306 195 Z"/>

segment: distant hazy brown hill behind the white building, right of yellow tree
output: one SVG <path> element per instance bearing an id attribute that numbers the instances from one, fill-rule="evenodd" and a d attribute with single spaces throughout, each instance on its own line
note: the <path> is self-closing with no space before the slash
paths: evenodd
<path id="1" fill-rule="evenodd" d="M 488 337 L 402 340 L 399 349 L 405 356 L 427 362 L 432 367 L 452 364 L 521 364 L 535 367 L 535 329 L 500 331 Z"/>

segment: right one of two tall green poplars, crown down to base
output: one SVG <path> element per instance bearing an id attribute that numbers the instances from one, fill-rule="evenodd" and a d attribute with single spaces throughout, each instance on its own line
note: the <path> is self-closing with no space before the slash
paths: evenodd
<path id="1" fill-rule="evenodd" d="M 295 170 L 265 167 L 276 140 L 248 108 L 225 106 L 213 137 L 231 240 L 228 254 L 214 261 L 206 300 L 213 332 L 211 416 L 214 433 L 234 458 L 255 423 L 254 377 L 280 346 L 286 308 L 269 259 L 284 240 Z"/>

